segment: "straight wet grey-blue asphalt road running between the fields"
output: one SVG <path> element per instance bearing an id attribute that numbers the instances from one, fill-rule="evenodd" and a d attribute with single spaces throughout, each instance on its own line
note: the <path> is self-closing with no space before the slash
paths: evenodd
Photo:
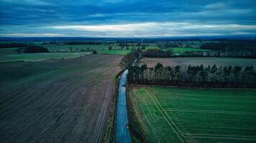
<path id="1" fill-rule="evenodd" d="M 125 70 L 122 74 L 119 83 L 119 93 L 116 109 L 116 142 L 127 143 L 132 142 L 129 129 L 127 129 L 128 117 L 127 117 L 127 102 L 125 97 L 126 82 L 127 82 L 128 70 Z M 124 84 L 125 83 L 125 84 Z"/>

